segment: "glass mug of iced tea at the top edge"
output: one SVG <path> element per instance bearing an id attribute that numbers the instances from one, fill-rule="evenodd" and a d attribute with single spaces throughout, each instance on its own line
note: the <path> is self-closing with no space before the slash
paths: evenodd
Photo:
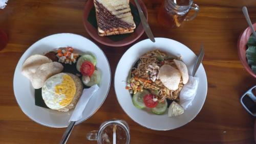
<path id="1" fill-rule="evenodd" d="M 194 10 L 192 16 L 187 16 L 189 10 Z M 158 12 L 158 22 L 167 28 L 178 28 L 182 21 L 194 19 L 199 12 L 199 6 L 193 0 L 164 0 Z"/>

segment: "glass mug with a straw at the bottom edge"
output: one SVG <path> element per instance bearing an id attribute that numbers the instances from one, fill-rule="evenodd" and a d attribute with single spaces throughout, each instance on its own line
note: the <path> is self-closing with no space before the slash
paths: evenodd
<path id="1" fill-rule="evenodd" d="M 119 119 L 107 121 L 100 125 L 98 131 L 88 133 L 87 139 L 97 140 L 99 144 L 128 144 L 130 143 L 129 126 L 126 122 Z"/>

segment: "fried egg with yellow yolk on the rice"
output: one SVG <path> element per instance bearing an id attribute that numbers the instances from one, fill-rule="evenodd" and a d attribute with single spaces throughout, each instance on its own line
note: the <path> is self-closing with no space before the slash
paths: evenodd
<path id="1" fill-rule="evenodd" d="M 65 73 L 50 77 L 42 86 L 42 99 L 50 109 L 66 107 L 73 100 L 75 93 L 75 82 Z"/>

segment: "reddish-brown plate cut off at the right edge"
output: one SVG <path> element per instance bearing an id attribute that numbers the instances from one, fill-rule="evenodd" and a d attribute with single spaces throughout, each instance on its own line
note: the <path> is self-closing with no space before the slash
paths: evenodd
<path id="1" fill-rule="evenodd" d="M 253 28 L 254 28 L 254 30 L 256 30 L 256 23 L 253 24 Z M 242 62 L 244 68 L 248 71 L 248 73 L 251 76 L 256 78 L 256 74 L 253 73 L 253 71 L 251 70 L 251 67 L 248 65 L 248 62 L 246 59 L 246 49 L 247 49 L 246 43 L 247 43 L 249 37 L 251 36 L 251 34 L 252 34 L 252 31 L 251 31 L 250 27 L 248 27 L 240 35 L 240 37 L 238 39 L 238 55 L 239 55 L 240 61 Z"/>

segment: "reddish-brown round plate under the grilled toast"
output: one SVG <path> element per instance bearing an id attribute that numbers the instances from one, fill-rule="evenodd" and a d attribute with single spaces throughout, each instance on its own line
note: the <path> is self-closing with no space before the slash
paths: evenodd
<path id="1" fill-rule="evenodd" d="M 130 1 L 134 6 L 135 2 L 134 0 Z M 147 19 L 147 9 L 146 6 L 144 5 L 144 3 L 141 0 L 138 0 L 140 7 Z M 88 32 L 88 34 L 95 39 L 96 41 L 98 41 L 99 43 L 102 43 L 104 45 L 109 45 L 109 46 L 124 46 L 124 45 L 128 45 L 131 44 L 132 42 L 134 42 L 135 40 L 137 40 L 143 33 L 144 33 L 144 29 L 143 26 L 140 22 L 138 28 L 135 29 L 135 31 L 128 37 L 119 40 L 119 41 L 113 41 L 108 37 L 101 37 L 98 35 L 98 30 L 95 29 L 91 23 L 87 20 L 89 13 L 91 11 L 91 9 L 94 7 L 94 3 L 93 0 L 88 0 L 88 2 L 86 3 L 86 6 L 84 7 L 84 12 L 83 12 L 83 24 L 84 27 L 86 28 L 86 31 Z"/>

